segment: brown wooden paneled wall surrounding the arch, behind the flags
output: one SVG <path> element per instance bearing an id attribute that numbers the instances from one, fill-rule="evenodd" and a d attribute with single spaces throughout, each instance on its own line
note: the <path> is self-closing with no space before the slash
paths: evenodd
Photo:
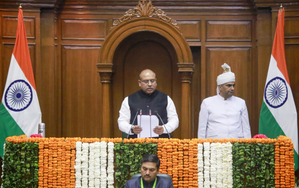
<path id="1" fill-rule="evenodd" d="M 123 6 L 116 3 L 107 10 L 92 9 L 93 5 L 88 2 L 85 2 L 88 9 L 80 9 L 72 3 L 56 2 L 59 8 L 55 8 L 56 5 L 23 7 L 42 119 L 46 123 L 48 137 L 100 137 L 101 118 L 105 117 L 102 117 L 101 108 L 102 83 L 96 67 L 99 50 L 113 21 L 126 10 L 134 8 L 137 1 L 128 1 Z M 269 4 L 268 8 L 247 9 L 248 2 L 244 1 L 246 11 L 222 9 L 215 12 L 213 6 L 197 11 L 190 7 L 182 8 L 180 3 L 176 6 L 176 2 L 171 6 L 153 1 L 154 6 L 155 3 L 177 21 L 192 51 L 195 64 L 190 96 L 192 137 L 197 137 L 202 100 L 216 94 L 216 77 L 222 73 L 220 65 L 223 63 L 228 63 L 236 74 L 235 95 L 246 100 L 252 133 L 257 134 L 278 6 Z M 299 9 L 286 7 L 285 10 L 286 61 L 298 109 Z M 2 98 L 15 40 L 17 9 L 2 5 L 0 16 Z M 124 74 L 124 80 L 136 79 L 136 76 Z M 119 83 L 112 84 L 118 87 Z M 115 100 L 122 101 L 122 98 Z M 118 110 L 113 108 L 112 113 L 117 114 Z M 115 125 L 111 137 L 120 136 L 117 117 L 113 118 Z"/>

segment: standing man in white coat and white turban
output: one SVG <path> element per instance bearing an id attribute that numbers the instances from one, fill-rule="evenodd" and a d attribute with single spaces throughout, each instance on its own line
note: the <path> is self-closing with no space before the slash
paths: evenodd
<path id="1" fill-rule="evenodd" d="M 198 138 L 251 138 L 245 101 L 233 96 L 235 74 L 222 65 L 217 77 L 217 95 L 203 100 L 199 112 Z"/>

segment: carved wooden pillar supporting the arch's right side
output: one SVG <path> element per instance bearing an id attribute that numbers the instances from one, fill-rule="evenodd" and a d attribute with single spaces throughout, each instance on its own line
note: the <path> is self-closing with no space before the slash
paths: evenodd
<path id="1" fill-rule="evenodd" d="M 181 138 L 192 137 L 191 134 L 191 79 L 193 74 L 193 63 L 178 63 L 179 73 L 182 81 L 182 108 L 181 108 Z"/>

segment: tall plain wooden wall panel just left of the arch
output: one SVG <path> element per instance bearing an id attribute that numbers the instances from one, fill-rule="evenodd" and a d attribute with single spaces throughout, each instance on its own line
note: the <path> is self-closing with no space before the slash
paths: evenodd
<path id="1" fill-rule="evenodd" d="M 99 47 L 62 46 L 62 136 L 100 137 Z"/>

